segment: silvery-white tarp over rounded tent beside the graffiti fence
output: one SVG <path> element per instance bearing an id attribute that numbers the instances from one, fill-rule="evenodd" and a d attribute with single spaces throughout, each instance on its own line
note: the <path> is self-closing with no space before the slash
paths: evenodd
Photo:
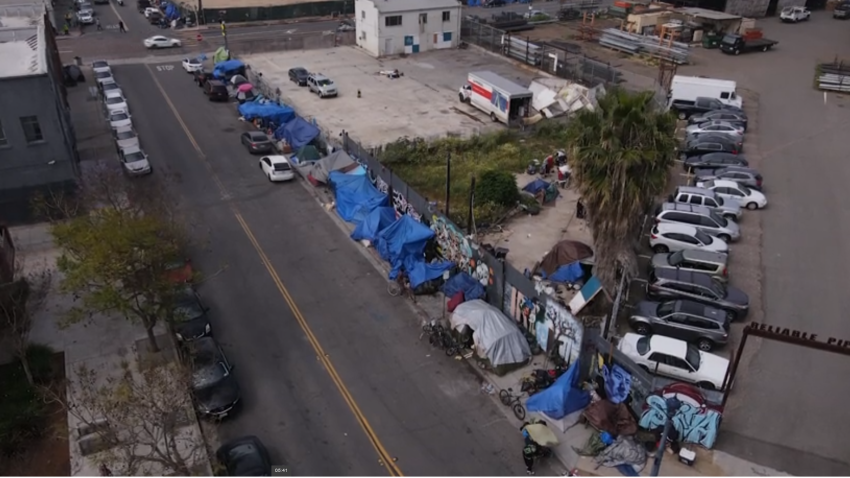
<path id="1" fill-rule="evenodd" d="M 501 310 L 484 302 L 471 300 L 457 306 L 451 317 L 452 328 L 472 329 L 472 340 L 478 355 L 490 360 L 494 367 L 522 363 L 531 358 L 525 336 Z"/>

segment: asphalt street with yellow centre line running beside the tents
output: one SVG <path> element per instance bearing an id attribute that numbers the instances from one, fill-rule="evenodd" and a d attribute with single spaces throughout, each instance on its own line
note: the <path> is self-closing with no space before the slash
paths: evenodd
<path id="1" fill-rule="evenodd" d="M 521 437 L 501 405 L 467 365 L 420 342 L 409 305 L 389 297 L 304 186 L 259 174 L 239 144 L 246 125 L 234 105 L 208 102 L 177 63 L 115 72 L 151 179 L 169 184 L 196 240 L 193 261 L 207 274 L 200 292 L 244 390 L 223 440 L 255 434 L 299 475 L 384 475 L 344 390 L 404 474 L 523 472 Z"/>

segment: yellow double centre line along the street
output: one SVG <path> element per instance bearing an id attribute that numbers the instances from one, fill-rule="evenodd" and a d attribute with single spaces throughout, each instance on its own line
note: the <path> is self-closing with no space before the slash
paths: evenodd
<path id="1" fill-rule="evenodd" d="M 198 142 L 195 141 L 194 136 L 189 131 L 189 128 L 186 126 L 186 123 L 183 121 L 183 118 L 180 117 L 180 114 L 177 112 L 177 108 L 174 106 L 174 103 L 171 102 L 171 99 L 168 97 L 168 94 L 165 92 L 165 88 L 162 87 L 162 84 L 157 79 L 156 75 L 154 75 L 153 70 L 149 65 L 146 65 L 148 69 L 148 73 L 150 73 L 151 78 L 153 79 L 154 84 L 159 89 L 159 92 L 162 94 L 162 97 L 165 99 L 168 107 L 171 108 L 171 112 L 174 114 L 174 117 L 177 119 L 177 122 L 180 124 L 180 127 L 183 128 L 183 132 L 186 133 L 186 137 L 189 139 L 189 142 L 192 144 L 192 147 L 198 152 L 198 159 L 204 163 L 204 166 L 207 168 L 207 171 L 210 173 L 210 176 L 213 178 L 213 182 L 215 182 L 219 191 L 223 198 L 230 198 L 230 193 L 224 187 L 224 184 L 221 182 L 221 179 L 212 169 L 209 161 L 207 161 L 207 157 L 204 154 L 201 147 L 198 145 Z M 360 427 L 363 428 L 363 432 L 366 434 L 366 437 L 369 439 L 369 442 L 372 443 L 372 447 L 375 448 L 375 451 L 378 453 L 378 458 L 380 462 L 386 467 L 390 476 L 404 476 L 402 474 L 401 469 L 396 464 L 395 459 L 390 455 L 384 445 L 381 443 L 381 440 L 378 439 L 378 435 L 375 433 L 375 430 L 372 429 L 372 426 L 369 425 L 369 421 L 366 420 L 366 416 L 363 415 L 363 412 L 360 410 L 360 407 L 357 405 L 357 402 L 354 401 L 354 397 L 351 396 L 351 392 L 348 391 L 348 388 L 345 386 L 345 383 L 340 378 L 339 374 L 336 371 L 336 368 L 331 363 L 328 354 L 325 353 L 325 350 L 322 348 L 322 345 L 319 343 L 319 340 L 316 338 L 315 334 L 313 334 L 313 330 L 310 328 L 310 325 L 307 324 L 307 320 L 304 318 L 304 315 L 301 313 L 301 310 L 298 308 L 298 305 L 295 303 L 295 300 L 289 294 L 289 290 L 287 290 L 286 286 L 283 285 L 283 281 L 280 279 L 280 276 L 263 250 L 262 246 L 260 246 L 259 241 L 254 236 L 254 233 L 251 231 L 251 228 L 248 226 L 248 223 L 245 221 L 245 218 L 242 217 L 242 214 L 239 212 L 239 209 L 236 205 L 231 201 L 229 203 L 230 209 L 233 212 L 233 215 L 236 217 L 236 221 L 242 227 L 242 230 L 245 232 L 245 235 L 248 236 L 248 240 L 251 242 L 251 245 L 254 246 L 254 250 L 257 251 L 257 254 L 260 256 L 260 260 L 263 262 L 266 270 L 271 276 L 272 281 L 277 286 L 277 290 L 280 291 L 280 295 L 283 296 L 283 299 L 286 301 L 286 304 L 289 306 L 289 309 L 292 311 L 292 315 L 295 316 L 295 320 L 298 321 L 298 325 L 301 327 L 301 330 L 304 331 L 304 334 L 307 336 L 307 339 L 310 341 L 310 345 L 313 347 L 313 350 L 316 352 L 319 360 L 321 360 L 322 365 L 325 366 L 325 370 L 327 370 L 328 375 L 330 375 L 331 380 L 333 380 L 334 385 L 336 385 L 337 390 L 339 390 L 340 395 L 345 400 L 345 403 L 348 404 L 348 408 L 351 409 L 351 412 L 354 414 L 354 417 L 357 419 L 358 423 L 360 423 Z"/>

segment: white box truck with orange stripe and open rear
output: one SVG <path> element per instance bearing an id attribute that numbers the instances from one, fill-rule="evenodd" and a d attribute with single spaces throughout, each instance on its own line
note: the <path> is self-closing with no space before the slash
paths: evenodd
<path id="1" fill-rule="evenodd" d="M 469 103 L 486 113 L 494 122 L 510 126 L 528 116 L 533 93 L 491 71 L 469 73 L 460 88 L 461 103 Z"/>

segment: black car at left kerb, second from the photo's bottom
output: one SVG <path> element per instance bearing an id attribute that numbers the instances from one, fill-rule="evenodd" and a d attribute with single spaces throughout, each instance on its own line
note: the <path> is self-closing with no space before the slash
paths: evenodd
<path id="1" fill-rule="evenodd" d="M 241 392 L 221 346 L 212 337 L 201 337 L 183 348 L 192 369 L 192 394 L 198 412 L 207 417 L 226 417 L 239 402 Z"/>

